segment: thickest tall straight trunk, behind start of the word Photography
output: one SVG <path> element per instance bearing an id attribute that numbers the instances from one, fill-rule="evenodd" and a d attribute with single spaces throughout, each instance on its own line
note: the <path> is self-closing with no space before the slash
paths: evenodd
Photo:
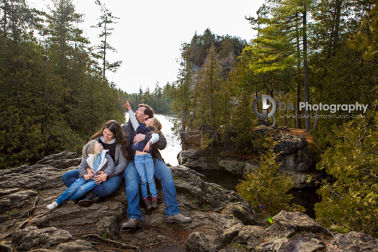
<path id="1" fill-rule="evenodd" d="M 307 104 L 309 103 L 308 95 L 308 65 L 307 65 L 307 6 L 304 6 L 303 10 L 303 69 L 304 69 L 304 96 L 305 96 L 305 121 L 306 121 L 306 131 L 310 131 L 310 112 L 307 109 Z"/>

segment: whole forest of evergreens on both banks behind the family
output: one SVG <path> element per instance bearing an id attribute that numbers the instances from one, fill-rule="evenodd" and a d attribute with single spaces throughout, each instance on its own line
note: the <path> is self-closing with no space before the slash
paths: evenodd
<path id="1" fill-rule="evenodd" d="M 214 134 L 203 135 L 204 149 L 256 154 L 252 102 L 267 94 L 293 104 L 294 110 L 276 111 L 277 126 L 310 132 L 317 168 L 337 179 L 321 182 L 327 201 L 317 205 L 318 220 L 377 236 L 378 1 L 267 0 L 246 20 L 256 38 L 195 33 L 181 45 L 177 81 L 136 94 L 106 78 L 122 64 L 106 58 L 115 50 L 107 37 L 117 17 L 96 3 L 103 15 L 94 27 L 102 41 L 89 45 L 70 0 L 56 0 L 48 13 L 25 0 L 0 1 L 2 168 L 63 150 L 80 153 L 105 121 L 124 123 L 125 99 L 180 114 L 178 134 L 208 127 Z M 350 118 L 304 118 L 330 113 L 300 111 L 298 105 L 356 101 L 368 104 L 367 112 L 338 111 Z"/>

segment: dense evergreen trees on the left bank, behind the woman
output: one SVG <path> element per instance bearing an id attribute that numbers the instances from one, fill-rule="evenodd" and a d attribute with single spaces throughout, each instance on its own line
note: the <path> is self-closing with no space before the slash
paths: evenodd
<path id="1" fill-rule="evenodd" d="M 125 110 L 119 91 L 90 61 L 88 41 L 74 25 L 82 15 L 70 0 L 55 1 L 50 13 L 43 13 L 46 26 L 42 12 L 28 9 L 23 0 L 13 3 L 10 8 L 1 2 L 0 168 L 64 150 L 80 154 L 105 121 L 124 122 Z M 26 33 L 27 28 L 38 29 L 42 37 Z"/>

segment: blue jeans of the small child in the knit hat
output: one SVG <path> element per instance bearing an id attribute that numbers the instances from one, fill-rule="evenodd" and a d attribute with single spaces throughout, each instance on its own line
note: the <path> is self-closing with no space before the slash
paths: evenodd
<path id="1" fill-rule="evenodd" d="M 74 201 L 95 188 L 95 186 L 95 180 L 91 179 L 87 181 L 84 177 L 80 177 L 56 199 L 56 203 L 62 205 L 66 199 Z"/>

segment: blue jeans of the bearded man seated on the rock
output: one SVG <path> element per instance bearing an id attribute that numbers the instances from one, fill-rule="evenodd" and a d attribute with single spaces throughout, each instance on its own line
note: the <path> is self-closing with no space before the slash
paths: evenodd
<path id="1" fill-rule="evenodd" d="M 155 165 L 155 179 L 161 182 L 161 187 L 163 188 L 164 203 L 167 206 L 166 216 L 180 213 L 172 171 L 160 159 L 153 157 L 153 163 Z M 125 176 L 128 218 L 133 217 L 142 221 L 142 213 L 139 210 L 139 174 L 135 168 L 134 161 L 130 161 L 127 164 L 123 174 Z"/>

